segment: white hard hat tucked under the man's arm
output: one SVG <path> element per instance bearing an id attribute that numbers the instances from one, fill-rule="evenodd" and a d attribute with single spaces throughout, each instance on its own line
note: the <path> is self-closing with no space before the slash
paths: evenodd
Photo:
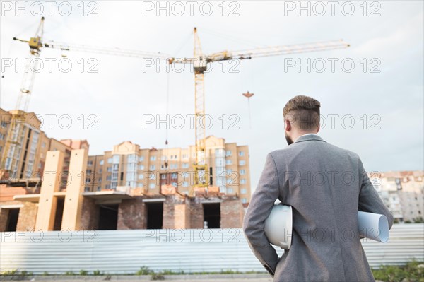
<path id="1" fill-rule="evenodd" d="M 269 242 L 281 249 L 290 249 L 292 228 L 292 207 L 283 204 L 274 205 L 265 221 L 265 235 Z"/>

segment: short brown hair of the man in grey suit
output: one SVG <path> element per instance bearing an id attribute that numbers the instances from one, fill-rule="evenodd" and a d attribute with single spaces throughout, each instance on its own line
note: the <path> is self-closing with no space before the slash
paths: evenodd
<path id="1" fill-rule="evenodd" d="M 321 103 L 318 100 L 305 95 L 298 95 L 285 104 L 283 116 L 298 129 L 314 129 L 319 127 L 320 107 Z"/>

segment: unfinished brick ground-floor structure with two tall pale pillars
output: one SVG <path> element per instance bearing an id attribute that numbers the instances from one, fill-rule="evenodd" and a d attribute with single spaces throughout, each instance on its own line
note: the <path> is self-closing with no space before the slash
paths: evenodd
<path id="1" fill-rule="evenodd" d="M 40 193 L 0 186 L 0 231 L 240 228 L 243 205 L 219 187 L 194 195 L 161 184 L 160 192 L 117 186 L 84 192 L 87 150 L 71 151 L 66 189 L 61 189 L 64 153 L 47 152 Z"/>

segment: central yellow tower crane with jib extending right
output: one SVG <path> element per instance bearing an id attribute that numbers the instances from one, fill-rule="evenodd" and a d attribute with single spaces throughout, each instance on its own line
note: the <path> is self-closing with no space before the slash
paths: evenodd
<path id="1" fill-rule="evenodd" d="M 206 164 L 206 130 L 205 130 L 205 93 L 204 72 L 208 64 L 215 61 L 227 61 L 231 59 L 252 59 L 256 57 L 278 56 L 305 52 L 316 52 L 330 49 L 349 47 L 343 40 L 327 42 L 313 42 L 299 45 L 283 45 L 275 47 L 260 47 L 241 51 L 223 51 L 205 55 L 202 52 L 197 28 L 194 28 L 194 56 L 192 58 L 169 60 L 170 64 L 191 64 L 194 68 L 194 106 L 195 106 L 195 163 L 194 163 L 194 187 L 208 187 L 208 165 Z M 190 192 L 193 194 L 193 189 Z"/>

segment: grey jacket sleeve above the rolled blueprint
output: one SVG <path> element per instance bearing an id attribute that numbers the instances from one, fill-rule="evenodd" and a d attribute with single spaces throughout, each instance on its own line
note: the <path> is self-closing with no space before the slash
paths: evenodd
<path id="1" fill-rule="evenodd" d="M 394 218 L 391 215 L 389 208 L 384 204 L 379 197 L 377 191 L 370 181 L 367 172 L 363 168 L 363 163 L 359 160 L 359 176 L 362 178 L 360 192 L 359 192 L 359 211 L 367 211 L 369 213 L 379 213 L 387 217 L 389 221 L 389 229 L 393 225 Z"/>

